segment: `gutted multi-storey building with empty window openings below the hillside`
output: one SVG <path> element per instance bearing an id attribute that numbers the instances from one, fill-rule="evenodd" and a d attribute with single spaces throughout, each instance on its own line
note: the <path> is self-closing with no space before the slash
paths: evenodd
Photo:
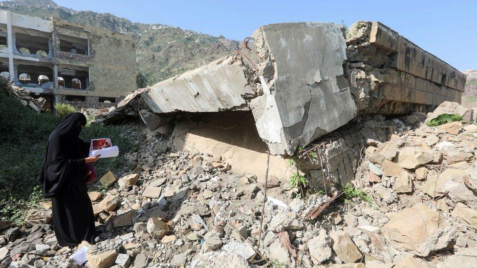
<path id="1" fill-rule="evenodd" d="M 131 35 L 58 18 L 0 11 L 0 75 L 22 93 L 77 107 L 110 107 L 135 89 Z"/>

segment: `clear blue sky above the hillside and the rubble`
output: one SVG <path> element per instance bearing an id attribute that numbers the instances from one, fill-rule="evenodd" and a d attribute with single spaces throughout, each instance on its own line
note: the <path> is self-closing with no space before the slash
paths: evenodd
<path id="1" fill-rule="evenodd" d="M 293 21 L 381 21 L 459 70 L 477 69 L 477 0 L 55 0 L 243 40 L 260 25 Z"/>

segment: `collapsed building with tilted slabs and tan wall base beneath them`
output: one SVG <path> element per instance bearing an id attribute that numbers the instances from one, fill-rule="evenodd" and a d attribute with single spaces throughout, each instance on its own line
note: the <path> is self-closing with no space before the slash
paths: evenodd
<path id="1" fill-rule="evenodd" d="M 278 23 L 261 26 L 233 56 L 131 93 L 105 120 L 139 115 L 175 149 L 221 155 L 236 171 L 259 177 L 268 150 L 271 175 L 280 180 L 291 172 L 284 158 L 333 134 L 336 142 L 323 147 L 326 172 L 299 166 L 313 179 L 333 173 L 328 177 L 343 182 L 366 138 L 389 139 L 395 130 L 392 121 L 364 117 L 460 102 L 465 80 L 380 22 L 349 29 Z"/>

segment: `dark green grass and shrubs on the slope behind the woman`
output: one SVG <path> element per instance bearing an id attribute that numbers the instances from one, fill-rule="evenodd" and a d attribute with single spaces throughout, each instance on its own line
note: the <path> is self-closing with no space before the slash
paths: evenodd
<path id="1" fill-rule="evenodd" d="M 61 118 L 37 113 L 6 94 L 0 80 L 0 220 L 22 223 L 25 211 L 39 207 L 42 200 L 37 177 L 43 164 L 46 143 Z M 121 127 L 87 124 L 80 135 L 83 140 L 110 138 L 121 148 L 116 158 L 101 159 L 94 164 L 98 177 L 124 166 L 124 153 L 137 145 L 121 134 Z"/>

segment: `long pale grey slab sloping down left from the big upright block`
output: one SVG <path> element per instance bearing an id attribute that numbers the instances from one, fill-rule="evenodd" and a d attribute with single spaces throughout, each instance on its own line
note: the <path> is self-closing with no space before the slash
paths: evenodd
<path id="1" fill-rule="evenodd" d="M 255 96 L 249 70 L 229 64 L 230 57 L 154 84 L 143 100 L 154 113 L 249 110 L 245 99 Z"/>

